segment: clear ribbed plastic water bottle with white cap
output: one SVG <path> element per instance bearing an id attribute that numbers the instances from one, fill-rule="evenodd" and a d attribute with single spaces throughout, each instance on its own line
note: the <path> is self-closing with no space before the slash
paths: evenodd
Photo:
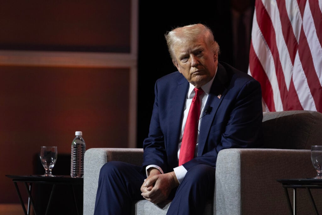
<path id="1" fill-rule="evenodd" d="M 71 143 L 71 177 L 82 178 L 84 175 L 84 154 L 86 144 L 82 132 L 75 132 L 76 137 Z"/>

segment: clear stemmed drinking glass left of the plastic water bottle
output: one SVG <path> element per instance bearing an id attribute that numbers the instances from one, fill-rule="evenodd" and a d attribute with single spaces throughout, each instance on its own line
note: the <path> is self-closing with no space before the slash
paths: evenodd
<path id="1" fill-rule="evenodd" d="M 41 146 L 40 160 L 45 169 L 45 174 L 42 176 L 54 176 L 52 175 L 52 168 L 57 160 L 57 146 Z"/>

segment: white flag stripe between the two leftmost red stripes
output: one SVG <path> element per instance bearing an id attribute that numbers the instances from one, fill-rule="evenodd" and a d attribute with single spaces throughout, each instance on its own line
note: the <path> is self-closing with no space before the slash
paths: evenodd
<path id="1" fill-rule="evenodd" d="M 275 103 L 275 110 L 283 111 L 283 104 L 280 97 L 279 86 L 278 86 L 278 81 L 277 81 L 276 72 L 275 72 L 274 59 L 273 59 L 272 53 L 270 52 L 270 48 L 268 47 L 268 44 L 266 43 L 264 36 L 261 33 L 260 28 L 257 24 L 256 9 L 254 12 L 251 38 L 252 38 L 254 51 L 271 83 L 274 103 Z"/>

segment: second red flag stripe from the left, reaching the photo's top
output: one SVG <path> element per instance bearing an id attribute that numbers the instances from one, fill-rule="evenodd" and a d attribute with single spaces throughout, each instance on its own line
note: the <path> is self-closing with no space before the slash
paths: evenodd
<path id="1" fill-rule="evenodd" d="M 285 84 L 285 77 L 284 77 L 282 65 L 279 61 L 279 51 L 277 49 L 277 44 L 275 40 L 276 38 L 275 30 L 270 20 L 270 16 L 268 15 L 263 3 L 261 1 L 256 1 L 255 5 L 256 5 L 256 16 L 257 16 L 258 26 L 273 55 L 275 72 L 276 72 L 277 81 L 279 85 L 279 91 L 280 91 L 280 96 L 283 104 L 283 109 L 287 110 L 288 91 Z"/>

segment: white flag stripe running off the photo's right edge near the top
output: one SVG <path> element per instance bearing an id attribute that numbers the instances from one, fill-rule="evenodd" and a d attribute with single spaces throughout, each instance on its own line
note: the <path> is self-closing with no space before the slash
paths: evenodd
<path id="1" fill-rule="evenodd" d="M 308 41 L 308 46 L 310 47 L 310 52 L 313 58 L 313 65 L 317 73 L 317 77 L 320 84 L 322 85 L 322 48 L 319 39 L 317 38 L 317 32 L 308 1 L 306 2 L 303 14 L 303 30 Z"/>

